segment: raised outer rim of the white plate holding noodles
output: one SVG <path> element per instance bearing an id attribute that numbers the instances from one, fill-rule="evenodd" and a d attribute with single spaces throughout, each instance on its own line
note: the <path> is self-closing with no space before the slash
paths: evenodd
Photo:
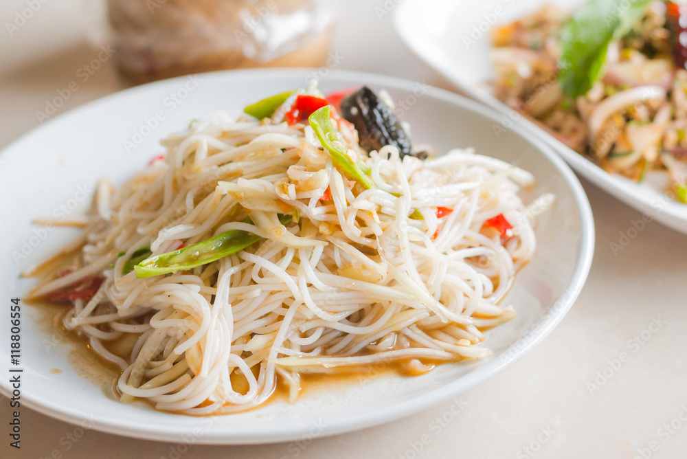
<path id="1" fill-rule="evenodd" d="M 304 76 L 305 74 L 311 73 L 313 69 L 241 69 L 241 70 L 229 70 L 229 71 L 217 71 L 207 74 L 203 74 L 203 78 L 207 79 L 223 79 L 232 78 L 232 76 L 244 76 L 250 78 L 275 78 L 275 76 Z M 406 91 L 413 91 L 413 89 L 418 84 L 411 80 L 405 80 L 402 78 L 396 78 L 392 76 L 382 76 L 376 74 L 368 74 L 360 71 L 347 71 L 347 70 L 333 70 L 332 74 L 341 79 L 350 80 L 362 80 L 369 82 L 372 85 L 379 85 L 381 87 L 388 87 L 394 89 L 401 89 Z M 113 93 L 109 96 L 105 96 L 98 100 L 94 100 L 87 104 L 82 105 L 76 109 L 63 113 L 58 117 L 46 122 L 43 126 L 39 126 L 34 130 L 21 136 L 15 142 L 10 144 L 8 147 L 4 148 L 0 152 L 0 158 L 6 152 L 15 150 L 16 148 L 21 148 L 21 144 L 25 142 L 30 137 L 34 135 L 41 135 L 41 131 L 45 126 L 50 126 L 56 122 L 68 122 L 69 119 L 78 117 L 81 113 L 88 112 L 97 109 L 101 105 L 106 105 L 109 100 L 113 98 L 118 98 L 122 93 L 132 94 L 145 92 L 149 87 L 152 86 L 164 86 L 169 85 L 170 87 L 177 87 L 179 82 L 183 81 L 187 77 L 172 78 L 169 80 L 162 80 L 159 82 L 149 83 L 148 85 L 142 85 L 139 87 L 133 87 L 131 89 L 125 89 L 124 91 L 119 91 Z M 489 107 L 485 107 L 479 102 L 465 98 L 464 96 L 459 96 L 458 94 L 452 93 L 450 91 L 445 91 L 443 89 L 438 89 L 435 87 L 428 87 L 427 94 L 435 98 L 440 98 L 451 102 L 451 104 L 457 104 L 458 106 L 473 111 L 479 115 L 482 115 L 493 121 L 498 120 L 498 113 Z M 545 324 L 542 327 L 536 326 L 532 327 L 530 332 L 515 342 L 510 348 L 508 348 L 507 356 L 502 356 L 504 358 L 493 359 L 481 366 L 476 368 L 464 377 L 456 380 L 453 383 L 448 383 L 442 385 L 442 387 L 437 388 L 421 394 L 419 396 L 406 401 L 405 403 L 399 403 L 397 405 L 387 406 L 383 409 L 377 410 L 372 413 L 362 413 L 354 416 L 348 416 L 343 420 L 331 420 L 326 425 L 326 429 L 322 434 L 318 434 L 319 437 L 330 436 L 334 434 L 341 434 L 345 432 L 351 432 L 358 429 L 363 429 L 365 427 L 372 427 L 374 425 L 379 425 L 388 421 L 393 421 L 395 419 L 425 410 L 428 407 L 441 403 L 451 399 L 452 396 L 457 396 L 458 394 L 469 390 L 475 385 L 478 385 L 487 379 L 495 376 L 495 374 L 501 372 L 508 366 L 515 363 L 523 355 L 529 352 L 534 346 L 539 344 L 552 330 L 555 328 L 559 322 L 563 319 L 567 311 L 570 310 L 572 304 L 576 300 L 578 294 L 585 284 L 589 269 L 592 265 L 592 258 L 594 255 L 594 219 L 592 216 L 592 210 L 587 200 L 587 196 L 579 183 L 578 179 L 575 177 L 574 173 L 565 164 L 565 162 L 556 155 L 552 148 L 542 142 L 541 139 L 537 138 L 526 138 L 521 133 L 518 133 L 517 123 L 514 133 L 523 137 L 526 142 L 532 144 L 537 150 L 547 157 L 552 163 L 552 166 L 561 173 L 565 179 L 567 186 L 570 187 L 574 201 L 579 210 L 579 218 L 581 224 L 581 240 L 580 240 L 580 250 L 578 251 L 578 263 L 570 277 L 570 283 L 565 287 L 565 291 L 570 292 L 564 298 L 559 298 L 555 306 L 550 309 L 547 313 L 541 317 L 539 324 Z M 539 325 L 538 324 L 538 325 Z M 514 349 L 515 352 L 508 352 Z M 0 393 L 8 396 L 8 380 L 5 378 L 4 374 L 0 374 Z M 30 407 L 32 410 L 41 412 L 52 418 L 56 418 L 60 421 L 65 421 L 75 425 L 79 425 L 83 422 L 86 414 L 80 410 L 71 409 L 70 407 L 64 407 L 53 400 L 45 399 L 37 394 L 31 394 L 23 392 L 22 402 L 26 407 Z M 305 426 L 305 427 L 309 427 Z M 179 428 L 175 429 L 173 427 L 164 426 L 164 429 L 151 429 L 151 426 L 145 423 L 132 424 L 131 422 L 119 421 L 115 418 L 96 418 L 91 422 L 89 428 L 98 430 L 100 432 L 105 432 L 108 434 L 118 434 L 122 436 L 128 436 L 131 438 L 142 438 L 146 440 L 155 441 L 166 441 L 166 442 L 178 442 L 179 438 L 183 434 L 188 434 L 188 430 Z M 151 436 L 155 434 L 155 437 Z M 263 433 L 256 432 L 253 435 L 242 436 L 241 438 L 227 437 L 227 432 L 215 432 L 212 429 L 207 429 L 207 432 L 201 436 L 201 438 L 196 439 L 196 444 L 207 444 L 207 445 L 249 445 L 249 444 L 264 444 L 264 443 L 277 443 L 282 441 L 295 440 L 301 438 L 304 434 L 307 434 L 307 429 L 304 426 L 293 423 L 292 425 L 283 425 L 280 429 L 275 429 L 271 432 L 269 438 L 264 438 Z"/>

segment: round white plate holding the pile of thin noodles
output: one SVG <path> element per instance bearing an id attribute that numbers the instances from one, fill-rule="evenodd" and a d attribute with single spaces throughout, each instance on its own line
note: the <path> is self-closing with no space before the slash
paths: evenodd
<path id="1" fill-rule="evenodd" d="M 202 75 L 195 88 L 188 78 L 157 82 L 91 102 L 12 144 L 0 155 L 0 214 L 5 222 L 12 221 L 0 232 L 4 260 L 0 278 L 7 280 L 0 298 L 7 302 L 25 295 L 32 280 L 19 279 L 19 271 L 74 235 L 66 229 L 54 229 L 37 236 L 30 223 L 34 217 L 54 215 L 61 205 L 74 208 L 80 199 L 78 188 L 92 188 L 98 177 L 122 183 L 160 152 L 160 138 L 185 128 L 192 118 L 206 117 L 216 109 L 238 113 L 250 102 L 302 87 L 308 74 L 311 71 L 299 69 L 227 71 Z M 416 378 L 333 383 L 304 394 L 294 405 L 275 401 L 240 414 L 194 418 L 108 399 L 97 385 L 76 374 L 67 359 L 69 344 L 60 343 L 59 335 L 36 326 L 32 322 L 36 311 L 25 305 L 21 335 L 23 405 L 71 423 L 87 423 L 103 432 L 153 440 L 179 441 L 182 436 L 191 436 L 195 443 L 212 444 L 294 440 L 361 429 L 423 410 L 492 377 L 540 342 L 574 302 L 592 262 L 592 213 L 570 168 L 537 139 L 525 139 L 514 132 L 495 138 L 491 126 L 497 115 L 491 109 L 447 91 L 346 71 L 332 71 L 321 87 L 331 91 L 363 83 L 386 88 L 397 102 L 405 104 L 403 119 L 412 123 L 418 142 L 432 142 L 444 151 L 450 146 L 475 146 L 480 153 L 517 161 L 539 180 L 537 187 L 526 193 L 527 201 L 543 192 L 556 194 L 554 208 L 539 217 L 537 252 L 504 300 L 516 306 L 518 316 L 488 333 L 484 346 L 494 350 L 493 357 L 447 364 Z M 182 90 L 184 85 L 187 89 Z M 180 104 L 172 102 L 173 93 L 179 100 L 183 97 Z M 142 129 L 146 120 L 155 124 L 151 120 L 156 111 L 164 120 L 157 128 Z M 148 136 L 127 155 L 124 140 L 131 141 L 134 132 L 142 130 Z M 84 208 L 87 200 L 81 201 Z M 21 252 L 22 247 L 31 253 L 14 262 L 12 251 Z M 0 330 L 6 337 L 9 312 L 3 311 L 7 312 L 0 315 Z M 5 339 L 5 345 L 0 346 L 0 361 L 4 362 L 0 382 L 5 395 L 10 392 L 8 348 Z M 49 372 L 51 368 L 63 373 L 54 375 Z"/>

